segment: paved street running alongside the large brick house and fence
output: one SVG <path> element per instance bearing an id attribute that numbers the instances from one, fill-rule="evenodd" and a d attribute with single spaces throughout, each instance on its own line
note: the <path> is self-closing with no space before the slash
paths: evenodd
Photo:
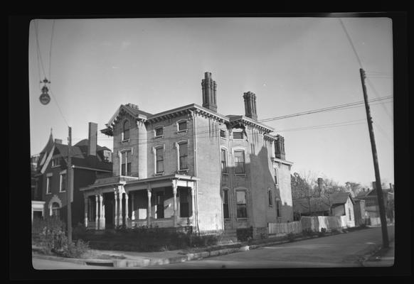
<path id="1" fill-rule="evenodd" d="M 388 226 L 390 239 L 394 226 Z M 265 246 L 252 251 L 186 261 L 148 269 L 231 269 L 231 268 L 330 268 L 358 267 L 359 259 L 373 246 L 382 244 L 381 227 L 353 231 L 292 243 Z"/>

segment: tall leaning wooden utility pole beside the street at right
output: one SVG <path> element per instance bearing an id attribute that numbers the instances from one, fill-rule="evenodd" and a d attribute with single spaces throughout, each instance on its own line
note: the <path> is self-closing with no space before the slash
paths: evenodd
<path id="1" fill-rule="evenodd" d="M 359 69 L 359 73 L 361 75 L 363 100 L 365 101 L 366 120 L 368 121 L 369 138 L 371 139 L 373 168 L 375 170 L 375 179 L 376 179 L 376 192 L 377 192 L 377 199 L 378 199 L 378 207 L 380 210 L 381 230 L 383 234 L 383 248 L 388 248 L 389 242 L 388 242 L 388 231 L 387 231 L 387 220 L 386 220 L 386 208 L 385 208 L 385 204 L 383 201 L 383 190 L 381 188 L 381 178 L 379 174 L 378 155 L 376 152 L 375 137 L 373 136 L 371 111 L 369 109 L 368 96 L 366 94 L 366 86 L 365 86 L 366 76 L 365 76 L 365 71 L 363 71 L 362 68 Z"/>

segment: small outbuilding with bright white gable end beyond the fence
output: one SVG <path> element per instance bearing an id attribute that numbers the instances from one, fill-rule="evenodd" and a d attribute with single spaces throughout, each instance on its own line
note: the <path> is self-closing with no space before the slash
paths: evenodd
<path id="1" fill-rule="evenodd" d="M 346 216 L 346 226 L 355 226 L 354 199 L 349 192 L 336 192 L 329 195 L 331 216 Z"/>

